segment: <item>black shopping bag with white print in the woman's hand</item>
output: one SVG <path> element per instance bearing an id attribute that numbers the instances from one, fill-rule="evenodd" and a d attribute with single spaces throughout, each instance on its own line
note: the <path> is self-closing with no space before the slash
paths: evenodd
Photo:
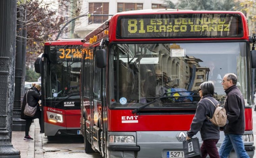
<path id="1" fill-rule="evenodd" d="M 201 151 L 200 151 L 200 145 L 198 138 L 191 138 L 189 140 L 183 141 L 183 150 L 184 150 L 184 156 L 187 157 L 194 157 L 194 158 L 200 158 L 202 157 Z"/>

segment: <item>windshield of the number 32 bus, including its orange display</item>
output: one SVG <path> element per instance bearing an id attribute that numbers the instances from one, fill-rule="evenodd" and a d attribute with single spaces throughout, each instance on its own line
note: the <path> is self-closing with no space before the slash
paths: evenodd
<path id="1" fill-rule="evenodd" d="M 56 100 L 79 96 L 81 49 L 81 45 L 54 45 L 48 48 L 46 98 Z"/>

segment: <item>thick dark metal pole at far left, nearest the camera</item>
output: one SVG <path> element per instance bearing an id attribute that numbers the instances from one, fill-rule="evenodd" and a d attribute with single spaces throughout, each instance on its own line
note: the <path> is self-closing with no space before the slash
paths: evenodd
<path id="1" fill-rule="evenodd" d="M 20 158 L 11 144 L 14 104 L 16 0 L 0 1 L 0 158 Z"/>

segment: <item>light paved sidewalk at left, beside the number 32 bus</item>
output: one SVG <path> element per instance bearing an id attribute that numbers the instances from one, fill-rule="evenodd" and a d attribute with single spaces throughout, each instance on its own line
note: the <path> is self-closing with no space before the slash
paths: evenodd
<path id="1" fill-rule="evenodd" d="M 39 119 L 34 119 L 29 130 L 33 140 L 24 140 L 25 131 L 12 131 L 11 144 L 14 149 L 20 150 L 21 158 L 43 158 L 43 141 L 40 134 Z"/>

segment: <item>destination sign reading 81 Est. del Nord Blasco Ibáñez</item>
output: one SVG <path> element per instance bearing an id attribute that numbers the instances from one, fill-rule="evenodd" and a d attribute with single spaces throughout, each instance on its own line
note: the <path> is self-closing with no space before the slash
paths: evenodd
<path id="1" fill-rule="evenodd" d="M 239 14 L 144 14 L 118 18 L 117 38 L 242 37 Z"/>

